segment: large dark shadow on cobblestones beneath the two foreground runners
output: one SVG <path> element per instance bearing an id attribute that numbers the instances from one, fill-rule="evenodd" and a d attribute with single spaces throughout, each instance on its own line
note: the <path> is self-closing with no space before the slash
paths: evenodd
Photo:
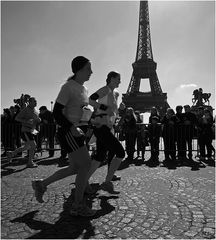
<path id="1" fill-rule="evenodd" d="M 74 190 L 74 189 L 73 189 Z M 21 217 L 11 220 L 12 223 L 25 223 L 29 228 L 33 230 L 40 230 L 39 233 L 33 234 L 28 239 L 76 239 L 80 236 L 84 239 L 92 238 L 95 235 L 95 227 L 92 225 L 91 220 L 97 219 L 101 216 L 111 213 L 115 210 L 115 207 L 109 204 L 109 199 L 116 199 L 117 196 L 99 196 L 101 200 L 100 207 L 97 213 L 93 217 L 80 217 L 70 216 L 69 210 L 73 202 L 74 191 L 66 199 L 63 205 L 63 212 L 60 214 L 60 218 L 54 224 L 50 224 L 44 221 L 40 221 L 37 218 L 39 210 L 29 212 Z M 95 196 L 88 198 L 87 205 L 91 206 Z"/>

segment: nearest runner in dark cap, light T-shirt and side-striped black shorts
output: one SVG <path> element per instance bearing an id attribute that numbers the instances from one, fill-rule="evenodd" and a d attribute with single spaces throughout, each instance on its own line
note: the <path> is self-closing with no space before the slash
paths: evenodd
<path id="1" fill-rule="evenodd" d="M 46 179 L 32 181 L 32 186 L 36 199 L 43 202 L 43 194 L 48 185 L 67 176 L 77 174 L 75 197 L 70 214 L 89 217 L 96 213 L 95 210 L 86 205 L 83 198 L 91 158 L 85 144 L 84 133 L 79 125 L 84 114 L 83 107 L 89 103 L 87 88 L 84 83 L 89 80 L 92 69 L 90 61 L 83 56 L 74 58 L 71 67 L 74 75 L 69 77 L 61 87 L 53 109 L 54 118 L 60 126 L 57 137 L 60 145 L 68 153 L 69 166 L 58 170 Z"/>

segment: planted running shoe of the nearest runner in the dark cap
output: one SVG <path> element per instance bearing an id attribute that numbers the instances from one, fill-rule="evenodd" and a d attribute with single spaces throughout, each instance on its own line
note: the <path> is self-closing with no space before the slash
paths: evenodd
<path id="1" fill-rule="evenodd" d="M 96 214 L 97 210 L 91 209 L 84 204 L 73 204 L 69 212 L 71 216 L 92 217 Z"/>

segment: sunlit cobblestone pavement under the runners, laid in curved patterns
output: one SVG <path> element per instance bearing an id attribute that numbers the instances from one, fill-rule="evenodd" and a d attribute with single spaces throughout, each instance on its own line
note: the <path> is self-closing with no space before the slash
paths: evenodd
<path id="1" fill-rule="evenodd" d="M 148 155 L 148 153 L 147 153 Z M 215 239 L 215 167 L 173 169 L 148 167 L 136 160 L 122 165 L 119 194 L 98 190 L 88 204 L 98 209 L 92 218 L 72 217 L 74 176 L 51 184 L 37 203 L 33 178 L 51 175 L 56 159 L 37 159 L 38 168 L 25 168 L 23 160 L 2 165 L 2 239 Z M 103 182 L 107 166 L 100 167 L 91 183 Z"/>

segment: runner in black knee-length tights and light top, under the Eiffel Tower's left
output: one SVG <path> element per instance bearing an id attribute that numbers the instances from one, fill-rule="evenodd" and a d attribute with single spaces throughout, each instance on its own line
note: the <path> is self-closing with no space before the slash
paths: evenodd
<path id="1" fill-rule="evenodd" d="M 120 84 L 120 74 L 112 71 L 107 75 L 106 86 L 100 88 L 89 98 L 89 103 L 96 109 L 96 117 L 92 123 L 95 125 L 94 135 L 96 136 L 96 156 L 92 160 L 89 178 L 106 158 L 109 151 L 114 156 L 110 163 L 102 189 L 115 193 L 113 190 L 112 178 L 115 171 L 125 157 L 125 151 L 119 140 L 112 133 L 115 118 L 118 113 L 117 98 L 119 93 L 115 90 Z"/>

